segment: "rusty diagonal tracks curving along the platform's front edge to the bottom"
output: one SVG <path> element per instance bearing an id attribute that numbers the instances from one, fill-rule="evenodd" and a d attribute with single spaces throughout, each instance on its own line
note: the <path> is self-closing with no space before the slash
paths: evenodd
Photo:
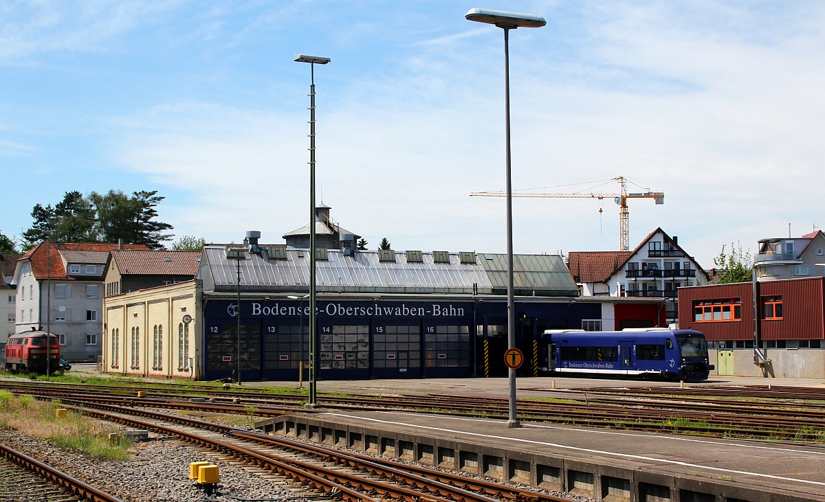
<path id="1" fill-rule="evenodd" d="M 413 467 L 388 459 L 376 459 L 334 448 L 290 439 L 279 439 L 226 425 L 214 424 L 156 411 L 123 406 L 65 400 L 71 407 L 101 420 L 111 420 L 139 429 L 180 438 L 187 443 L 231 456 L 248 465 L 311 486 L 313 490 L 341 500 L 374 502 L 563 502 L 568 499 L 524 490 L 515 486 L 477 480 Z M 96 408 L 95 410 L 90 409 Z M 140 417 L 140 418 L 138 418 Z"/>

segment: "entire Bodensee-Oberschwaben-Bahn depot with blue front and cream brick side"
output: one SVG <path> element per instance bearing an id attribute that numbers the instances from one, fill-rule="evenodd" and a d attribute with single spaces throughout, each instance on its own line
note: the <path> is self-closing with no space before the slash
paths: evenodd
<path id="1" fill-rule="evenodd" d="M 318 379 L 507 373 L 507 255 L 359 251 L 357 235 L 323 218 L 316 230 Z M 308 378 L 309 251 L 296 246 L 304 233 L 265 246 L 247 232 L 242 250 L 205 246 L 191 280 L 106 296 L 106 373 L 218 380 L 239 368 L 242 381 Z M 561 256 L 516 255 L 514 270 L 523 375 L 538 374 L 545 329 L 664 325 L 661 298 L 580 297 Z"/>

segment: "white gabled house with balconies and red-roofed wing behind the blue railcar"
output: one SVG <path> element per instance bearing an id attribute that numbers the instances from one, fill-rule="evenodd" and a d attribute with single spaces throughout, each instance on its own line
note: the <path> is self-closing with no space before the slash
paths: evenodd
<path id="1" fill-rule="evenodd" d="M 582 296 L 665 298 L 668 324 L 678 321 L 676 289 L 708 282 L 705 270 L 662 228 L 633 251 L 571 251 L 568 269 Z"/>

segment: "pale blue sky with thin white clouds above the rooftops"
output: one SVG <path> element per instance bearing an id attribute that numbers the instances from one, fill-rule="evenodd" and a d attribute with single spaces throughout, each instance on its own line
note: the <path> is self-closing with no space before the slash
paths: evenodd
<path id="1" fill-rule="evenodd" d="M 68 191 L 158 190 L 181 236 L 262 242 L 316 193 L 376 249 L 506 252 L 503 31 L 472 7 L 544 16 L 510 32 L 512 186 L 657 190 L 662 228 L 708 269 L 722 246 L 825 223 L 825 2 L 0 0 L 0 232 Z M 600 211 L 601 210 L 601 211 Z M 612 199 L 513 199 L 516 254 L 619 249 Z M 171 243 L 171 242 L 170 242 Z"/>

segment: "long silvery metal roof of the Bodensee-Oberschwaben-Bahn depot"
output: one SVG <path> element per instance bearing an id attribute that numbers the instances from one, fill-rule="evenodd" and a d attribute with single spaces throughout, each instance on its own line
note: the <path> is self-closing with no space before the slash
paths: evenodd
<path id="1" fill-rule="evenodd" d="M 198 278 L 206 291 L 295 291 L 309 288 L 309 251 L 287 249 L 286 260 L 270 260 L 245 253 L 246 259 L 228 260 L 223 246 L 206 246 Z M 492 264 L 490 263 L 492 262 Z M 506 289 L 505 255 L 479 255 L 475 263 L 461 263 L 450 253 L 450 263 L 434 263 L 432 253 L 421 262 L 408 262 L 402 252 L 394 261 L 380 261 L 377 251 L 345 256 L 328 250 L 328 260 L 316 260 L 318 291 L 341 293 L 498 293 Z M 498 264 L 503 264 L 502 269 Z M 559 256 L 516 256 L 516 286 L 541 295 L 577 296 L 578 289 Z M 566 278 L 566 281 L 564 280 Z"/>

